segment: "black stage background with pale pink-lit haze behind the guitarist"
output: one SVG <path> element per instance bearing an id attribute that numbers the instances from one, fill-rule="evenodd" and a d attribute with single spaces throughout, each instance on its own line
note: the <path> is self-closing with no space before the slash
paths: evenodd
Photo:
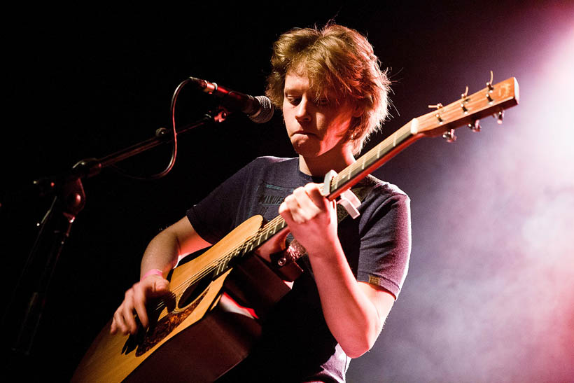
<path id="1" fill-rule="evenodd" d="M 423 139 L 375 172 L 412 198 L 410 272 L 375 347 L 349 382 L 564 382 L 574 376 L 574 6 L 569 1 L 356 3 L 118 10 L 12 9 L 3 15 L 0 255 L 6 301 L 48 200 L 31 181 L 102 157 L 169 127 L 169 102 L 188 76 L 251 95 L 265 90 L 273 41 L 330 19 L 375 48 L 393 81 L 391 120 L 372 147 L 428 104 L 468 85 L 516 76 L 521 104 L 498 127 L 460 130 L 456 144 Z M 184 88 L 177 123 L 211 100 Z M 69 379 L 139 277 L 148 241 L 218 183 L 260 155 L 294 155 L 280 113 L 243 116 L 179 137 L 173 171 L 135 181 L 104 169 L 84 181 L 87 204 L 57 265 L 22 379 Z M 156 148 L 120 164 L 153 174 Z M 5 305 L 10 319 L 18 310 Z M 2 342 L 7 349 L 12 324 Z M 24 368 L 22 368 L 22 366 Z M 167 375 L 169 376 L 169 375 Z"/>

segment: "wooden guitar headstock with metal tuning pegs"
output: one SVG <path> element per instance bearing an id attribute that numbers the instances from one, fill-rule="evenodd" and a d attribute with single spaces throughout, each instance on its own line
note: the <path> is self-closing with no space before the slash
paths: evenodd
<path id="1" fill-rule="evenodd" d="M 468 88 L 467 88 L 468 92 Z M 442 104 L 429 105 L 435 111 L 414 118 L 411 121 L 412 134 L 423 134 L 436 137 L 442 134 L 447 141 L 454 141 L 454 129 L 468 126 L 474 131 L 480 130 L 479 119 L 494 115 L 498 123 L 502 123 L 504 110 L 517 105 L 519 101 L 519 86 L 516 78 L 511 77 L 492 85 L 486 83 L 486 88 L 472 95 L 466 92 L 456 102 L 447 106 Z"/>

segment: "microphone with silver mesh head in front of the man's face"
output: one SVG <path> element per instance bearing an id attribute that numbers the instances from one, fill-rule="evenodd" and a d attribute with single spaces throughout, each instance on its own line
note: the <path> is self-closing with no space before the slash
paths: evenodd
<path id="1" fill-rule="evenodd" d="M 273 117 L 273 104 L 265 96 L 244 95 L 201 78 L 190 77 L 190 80 L 197 88 L 221 99 L 221 104 L 230 111 L 245 113 L 254 123 L 267 123 Z"/>

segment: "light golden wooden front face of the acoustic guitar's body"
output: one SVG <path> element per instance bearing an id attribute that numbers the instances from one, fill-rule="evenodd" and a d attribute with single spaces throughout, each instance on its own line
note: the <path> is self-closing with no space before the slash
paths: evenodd
<path id="1" fill-rule="evenodd" d="M 261 216 L 253 216 L 249 218 L 247 221 L 241 223 L 241 225 L 235 228 L 235 230 L 230 232 L 230 234 L 221 239 L 220 242 L 212 246 L 211 249 L 203 253 L 200 257 L 195 258 L 180 267 L 176 267 L 170 281 L 172 292 L 179 289 L 176 295 L 181 297 L 186 290 L 185 288 L 181 288 L 181 286 L 186 286 L 188 279 L 190 279 L 191 276 L 197 274 L 198 270 L 206 270 L 210 265 L 221 260 L 221 258 L 232 251 L 232 249 L 235 249 L 237 246 L 244 243 L 246 239 L 254 235 L 255 232 L 260 229 L 261 224 Z M 201 325 L 202 321 L 200 321 L 200 319 L 204 318 L 206 313 L 218 302 L 221 295 L 221 288 L 230 271 L 231 269 L 225 270 L 223 273 L 219 274 L 200 292 L 200 294 L 198 294 L 197 298 L 185 307 L 175 307 L 172 312 L 168 312 L 167 309 L 163 309 L 158 318 L 158 324 L 167 322 L 167 325 L 163 331 L 158 332 L 160 333 L 159 335 L 153 334 L 151 336 L 162 336 L 160 340 L 148 339 L 146 341 L 139 340 L 133 342 L 134 337 L 129 337 L 127 335 L 111 335 L 109 333 L 109 328 L 111 326 L 110 321 L 99 333 L 90 346 L 90 349 L 88 349 L 87 353 L 78 365 L 71 381 L 121 382 L 152 354 L 162 354 L 164 352 L 165 354 L 172 354 L 174 351 L 169 349 L 171 347 L 170 344 L 174 343 L 174 347 L 177 347 L 175 343 L 181 343 L 182 341 L 178 340 L 178 342 L 172 342 L 172 338 L 183 330 L 193 328 L 194 326 L 192 325 L 195 325 L 196 323 L 197 326 Z M 174 315 L 177 316 L 176 319 L 173 319 Z M 182 319 L 182 316 L 185 317 Z M 172 323 L 173 321 L 179 321 L 179 323 L 176 323 L 174 326 Z M 174 328 L 172 328 L 172 326 L 174 326 Z M 168 333 L 163 334 L 166 329 L 168 330 Z M 193 331 L 191 333 L 193 333 Z M 144 344 L 146 342 L 148 343 L 148 347 Z M 154 357 L 158 358 L 158 356 L 155 355 Z M 235 363 L 238 363 L 239 361 Z M 174 361 L 174 363 L 176 363 L 176 361 Z M 231 367 L 232 365 L 229 368 Z"/>

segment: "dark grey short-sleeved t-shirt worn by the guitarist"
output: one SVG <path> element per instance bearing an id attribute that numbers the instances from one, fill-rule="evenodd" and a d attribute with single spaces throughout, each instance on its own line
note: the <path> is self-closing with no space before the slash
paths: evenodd
<path id="1" fill-rule="evenodd" d="M 260 214 L 270 221 L 295 188 L 322 181 L 300 172 L 297 158 L 257 158 L 187 215 L 197 233 L 215 244 L 251 216 Z M 374 177 L 357 187 L 358 193 L 366 193 L 358 207 L 360 216 L 339 223 L 339 240 L 358 281 L 381 286 L 397 297 L 410 253 L 409 198 Z M 308 260 L 300 265 L 305 272 L 269 314 L 262 339 L 223 380 L 344 382 L 349 358 L 325 323 Z"/>

